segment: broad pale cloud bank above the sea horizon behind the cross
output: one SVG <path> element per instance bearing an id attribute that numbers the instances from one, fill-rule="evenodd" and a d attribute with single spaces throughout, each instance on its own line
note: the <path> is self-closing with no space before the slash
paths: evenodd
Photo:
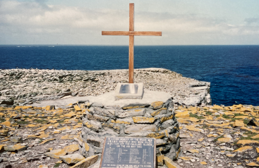
<path id="1" fill-rule="evenodd" d="M 127 10 L 4 0 L 0 1 L 0 44 L 111 44 L 111 40 L 128 44 L 127 38 L 100 36 L 102 30 L 127 31 L 128 15 Z M 134 17 L 135 31 L 163 32 L 162 38 L 137 37 L 136 44 L 236 44 L 259 34 L 259 18 L 229 24 L 204 14 L 137 11 Z"/>

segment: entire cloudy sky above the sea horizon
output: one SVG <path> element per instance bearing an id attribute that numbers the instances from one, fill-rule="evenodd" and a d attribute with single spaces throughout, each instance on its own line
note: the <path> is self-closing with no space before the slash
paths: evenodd
<path id="1" fill-rule="evenodd" d="M 258 0 L 0 0 L 0 44 L 259 45 Z"/>

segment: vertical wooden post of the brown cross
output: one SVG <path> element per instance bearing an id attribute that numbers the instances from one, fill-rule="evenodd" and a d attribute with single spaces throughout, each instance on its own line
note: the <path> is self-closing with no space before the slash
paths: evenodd
<path id="1" fill-rule="evenodd" d="M 130 3 L 130 31 L 134 31 L 134 3 Z M 134 83 L 134 35 L 129 39 L 129 83 Z"/>

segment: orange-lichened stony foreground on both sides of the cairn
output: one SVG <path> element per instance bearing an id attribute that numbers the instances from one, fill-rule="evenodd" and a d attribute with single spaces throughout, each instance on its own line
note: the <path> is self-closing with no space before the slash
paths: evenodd
<path id="1" fill-rule="evenodd" d="M 77 138 L 87 102 L 54 106 L 0 107 L 0 167 L 70 167 L 84 159 Z M 174 107 L 180 123 L 182 167 L 259 166 L 259 107 Z M 10 166 L 11 165 L 11 166 Z"/>

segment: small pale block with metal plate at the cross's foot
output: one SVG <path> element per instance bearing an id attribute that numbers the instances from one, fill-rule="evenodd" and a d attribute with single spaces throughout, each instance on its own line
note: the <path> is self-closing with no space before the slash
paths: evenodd
<path id="1" fill-rule="evenodd" d="M 142 99 L 143 83 L 118 83 L 115 90 L 115 100 Z"/>

